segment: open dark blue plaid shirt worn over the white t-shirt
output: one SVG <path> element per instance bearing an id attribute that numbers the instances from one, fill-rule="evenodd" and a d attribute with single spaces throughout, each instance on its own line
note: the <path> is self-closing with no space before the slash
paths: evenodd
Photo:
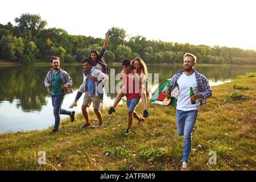
<path id="1" fill-rule="evenodd" d="M 201 98 L 199 99 L 200 105 L 207 104 L 207 98 L 212 96 L 212 89 L 210 88 L 209 81 L 204 75 L 201 75 L 199 72 L 195 71 L 196 75 L 196 83 L 199 89 L 199 93 Z M 177 84 L 177 80 L 179 80 L 180 76 L 184 73 L 184 69 L 181 69 L 177 72 L 170 81 L 171 88 L 172 88 L 172 96 L 176 97 L 179 94 L 179 85 Z M 165 89 L 167 86 L 164 87 L 163 93 L 165 93 Z"/>

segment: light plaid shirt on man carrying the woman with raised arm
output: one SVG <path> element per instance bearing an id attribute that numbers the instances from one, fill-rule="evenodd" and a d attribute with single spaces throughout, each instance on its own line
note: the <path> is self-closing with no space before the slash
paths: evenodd
<path id="1" fill-rule="evenodd" d="M 95 96 L 97 96 L 98 95 L 98 84 L 101 81 L 103 81 L 103 85 L 105 85 L 106 82 L 109 80 L 109 77 L 108 77 L 108 75 L 106 75 L 105 73 L 102 73 L 100 70 L 98 70 L 98 69 L 96 69 L 94 67 L 92 67 L 90 73 L 91 73 L 90 76 L 96 77 L 97 80 L 98 80 L 97 82 L 95 82 L 95 90 L 96 90 Z M 84 82 L 82 83 L 82 85 L 80 85 L 79 92 L 86 92 L 87 89 L 88 89 L 87 86 L 86 86 L 86 78 L 87 78 L 86 72 L 83 71 L 82 75 L 84 76 Z"/>

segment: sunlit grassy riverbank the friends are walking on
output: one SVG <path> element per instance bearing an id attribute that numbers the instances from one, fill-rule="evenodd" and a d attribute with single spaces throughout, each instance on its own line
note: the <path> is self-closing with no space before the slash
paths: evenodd
<path id="1" fill-rule="evenodd" d="M 213 96 L 200 107 L 195 125 L 191 170 L 256 169 L 255 74 L 212 87 Z M 176 134 L 175 108 L 149 108 L 150 117 L 139 126 L 134 121 L 129 135 L 122 134 L 127 126 L 125 105 L 119 105 L 111 119 L 106 110 L 102 112 L 102 129 L 81 129 L 84 119 L 77 114 L 75 123 L 64 119 L 54 135 L 48 135 L 51 129 L 1 134 L 0 169 L 179 170 L 183 138 Z M 137 111 L 142 113 L 141 102 Z M 97 125 L 93 113 L 90 118 Z M 39 151 L 46 152 L 46 165 L 38 164 Z M 216 165 L 208 164 L 209 151 L 216 152 Z"/>

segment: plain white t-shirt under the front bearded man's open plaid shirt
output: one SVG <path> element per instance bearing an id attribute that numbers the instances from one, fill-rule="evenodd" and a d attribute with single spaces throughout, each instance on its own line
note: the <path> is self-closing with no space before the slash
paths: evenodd
<path id="1" fill-rule="evenodd" d="M 199 93 L 198 86 L 196 83 L 195 72 L 190 76 L 187 76 L 185 75 L 185 73 L 183 73 L 177 80 L 177 84 L 179 85 L 179 94 L 177 96 L 176 109 L 184 110 L 184 111 L 198 110 L 200 106 L 199 99 L 196 100 L 196 104 L 191 104 L 191 98 L 190 98 L 191 86 L 195 94 Z"/>

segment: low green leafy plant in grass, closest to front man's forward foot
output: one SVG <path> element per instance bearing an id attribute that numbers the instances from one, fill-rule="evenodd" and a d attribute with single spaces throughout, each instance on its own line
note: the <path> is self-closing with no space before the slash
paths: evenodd
<path id="1" fill-rule="evenodd" d="M 156 148 L 154 145 L 150 146 L 146 150 L 139 152 L 143 159 L 146 159 L 148 162 L 152 160 L 161 160 L 166 157 L 168 151 L 164 148 Z"/>

